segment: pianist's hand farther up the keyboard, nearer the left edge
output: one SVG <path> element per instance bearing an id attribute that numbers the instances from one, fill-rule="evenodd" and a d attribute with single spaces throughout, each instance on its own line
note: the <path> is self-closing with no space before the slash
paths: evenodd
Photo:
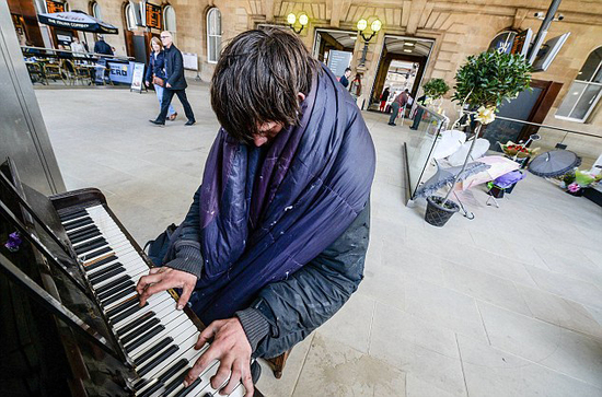
<path id="1" fill-rule="evenodd" d="M 177 301 L 177 310 L 181 311 L 188 303 L 196 283 L 197 277 L 186 271 L 167 267 L 152 268 L 148 276 L 140 278 L 136 292 L 140 295 L 140 306 L 143 306 L 151 295 L 171 288 L 181 288 L 182 294 Z"/>

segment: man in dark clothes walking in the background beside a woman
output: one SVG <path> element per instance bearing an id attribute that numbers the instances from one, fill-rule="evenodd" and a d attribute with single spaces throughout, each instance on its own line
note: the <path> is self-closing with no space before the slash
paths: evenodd
<path id="1" fill-rule="evenodd" d="M 192 126 L 196 121 L 193 108 L 186 97 L 185 90 L 188 84 L 186 84 L 186 79 L 184 78 L 184 59 L 182 58 L 182 52 L 174 46 L 173 37 L 170 32 L 161 32 L 161 42 L 163 43 L 165 54 L 165 90 L 163 90 L 163 100 L 161 101 L 161 112 L 159 113 L 159 116 L 157 116 L 157 119 L 149 121 L 158 126 L 165 125 L 167 110 L 175 94 L 182 103 L 184 113 L 188 119 L 185 126 Z"/>

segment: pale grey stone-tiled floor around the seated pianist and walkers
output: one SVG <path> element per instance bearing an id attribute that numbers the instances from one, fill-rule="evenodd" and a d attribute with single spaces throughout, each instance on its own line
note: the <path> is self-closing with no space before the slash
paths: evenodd
<path id="1" fill-rule="evenodd" d="M 36 91 L 69 189 L 101 188 L 137 241 L 181 222 L 218 124 L 207 85 L 197 125 L 148 122 L 153 94 Z M 182 106 L 176 104 L 182 110 Z M 602 210 L 531 174 L 500 208 L 442 229 L 403 203 L 407 128 L 364 114 L 378 151 L 366 279 L 297 346 L 267 396 L 602 396 Z"/>

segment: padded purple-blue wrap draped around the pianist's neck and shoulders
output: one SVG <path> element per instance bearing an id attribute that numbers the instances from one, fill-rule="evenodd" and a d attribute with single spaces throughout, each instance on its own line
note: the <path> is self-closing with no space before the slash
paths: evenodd
<path id="1" fill-rule="evenodd" d="M 245 308 L 331 245 L 363 209 L 375 153 L 349 93 L 323 68 L 301 122 L 265 148 L 221 129 L 200 191 L 205 260 L 193 306 L 206 322 Z"/>

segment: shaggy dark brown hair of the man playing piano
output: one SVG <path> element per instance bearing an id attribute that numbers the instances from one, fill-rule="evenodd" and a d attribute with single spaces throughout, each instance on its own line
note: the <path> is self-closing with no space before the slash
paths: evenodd
<path id="1" fill-rule="evenodd" d="M 299 122 L 298 93 L 309 94 L 317 70 L 317 61 L 291 33 L 241 33 L 223 49 L 213 72 L 211 107 L 230 136 L 250 142 L 263 122 Z"/>

